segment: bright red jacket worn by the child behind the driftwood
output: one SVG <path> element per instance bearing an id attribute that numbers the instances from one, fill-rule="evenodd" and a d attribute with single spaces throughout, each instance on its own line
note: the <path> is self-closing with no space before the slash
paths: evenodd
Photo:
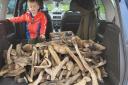
<path id="1" fill-rule="evenodd" d="M 39 23 L 40 23 L 40 35 L 45 35 L 47 18 L 45 17 L 45 14 L 42 12 L 38 12 L 33 17 L 33 19 L 30 12 L 26 12 L 25 14 L 19 17 L 14 17 L 9 20 L 14 23 L 27 22 L 28 32 L 31 39 L 34 39 L 37 37 L 37 30 L 39 28 Z"/>

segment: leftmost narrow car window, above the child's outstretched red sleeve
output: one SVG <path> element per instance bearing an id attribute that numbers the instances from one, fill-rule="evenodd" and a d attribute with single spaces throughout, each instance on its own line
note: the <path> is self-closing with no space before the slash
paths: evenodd
<path id="1" fill-rule="evenodd" d="M 10 18 L 10 17 L 14 16 L 14 10 L 15 10 L 15 6 L 16 6 L 16 1 L 17 0 L 9 0 L 8 7 L 7 7 L 6 18 Z"/>

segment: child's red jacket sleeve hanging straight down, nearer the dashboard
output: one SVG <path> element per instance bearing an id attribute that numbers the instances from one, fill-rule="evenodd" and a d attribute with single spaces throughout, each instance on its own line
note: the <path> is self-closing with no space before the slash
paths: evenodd
<path id="1" fill-rule="evenodd" d="M 41 19 L 41 29 L 40 29 L 40 35 L 45 35 L 46 32 L 46 26 L 47 26 L 47 18 L 44 15 Z"/>

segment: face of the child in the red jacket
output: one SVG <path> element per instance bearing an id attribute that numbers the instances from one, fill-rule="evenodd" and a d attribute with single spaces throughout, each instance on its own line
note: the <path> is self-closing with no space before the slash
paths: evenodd
<path id="1" fill-rule="evenodd" d="M 37 2 L 28 2 L 28 9 L 35 16 L 39 10 L 39 5 Z"/>

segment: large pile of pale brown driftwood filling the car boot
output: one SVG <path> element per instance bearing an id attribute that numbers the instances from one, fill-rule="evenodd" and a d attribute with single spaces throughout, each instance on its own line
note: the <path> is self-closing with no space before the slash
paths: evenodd
<path id="1" fill-rule="evenodd" d="M 107 77 L 105 47 L 74 36 L 37 44 L 11 45 L 0 76 L 23 78 L 29 85 L 99 85 Z M 20 82 L 20 80 L 19 80 Z"/>

